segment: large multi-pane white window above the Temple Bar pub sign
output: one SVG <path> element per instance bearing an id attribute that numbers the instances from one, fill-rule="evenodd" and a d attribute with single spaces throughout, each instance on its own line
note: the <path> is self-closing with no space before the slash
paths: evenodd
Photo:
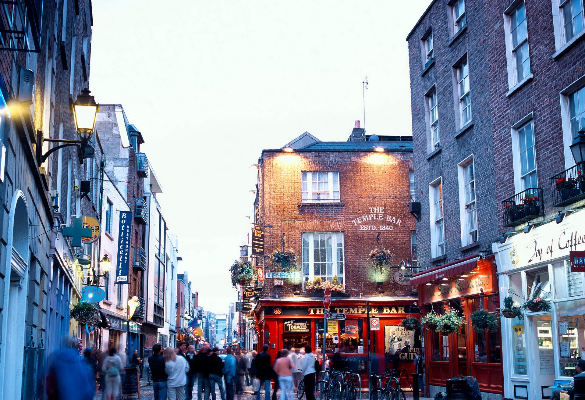
<path id="1" fill-rule="evenodd" d="M 303 281 L 313 281 L 316 276 L 331 281 L 337 276 L 343 283 L 343 233 L 302 234 Z"/>

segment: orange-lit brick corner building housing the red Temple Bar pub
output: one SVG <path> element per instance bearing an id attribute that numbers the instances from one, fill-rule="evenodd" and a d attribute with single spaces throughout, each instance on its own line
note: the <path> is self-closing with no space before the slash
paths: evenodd
<path id="1" fill-rule="evenodd" d="M 329 357 L 341 351 L 348 367 L 366 371 L 368 313 L 380 316 L 384 327 L 372 342 L 380 365 L 384 354 L 400 355 L 384 343 L 402 318 L 418 314 L 410 308 L 417 296 L 404 279 L 408 272 L 377 273 L 368 256 L 378 247 L 394 253 L 395 266 L 415 258 L 411 149 L 410 136 L 366 136 L 356 121 L 346 142 L 321 142 L 305 132 L 284 148 L 262 151 L 254 203 L 254 222 L 265 227 L 264 257 L 254 257 L 265 276 L 254 307 L 259 350 L 266 340 L 273 356 L 287 345 L 323 347 L 323 293 L 311 285 L 315 278 L 336 278 L 343 289 L 332 292 L 331 309 L 347 319 L 329 326 Z M 289 278 L 272 275 L 282 272 L 269 258 L 279 248 L 297 254 Z M 402 351 L 398 362 L 411 360 L 419 339 L 409 340 L 410 351 Z"/>

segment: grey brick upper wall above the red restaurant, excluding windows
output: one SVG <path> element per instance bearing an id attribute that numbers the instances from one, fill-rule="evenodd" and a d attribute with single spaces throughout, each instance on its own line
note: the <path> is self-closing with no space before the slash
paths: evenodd
<path id="1" fill-rule="evenodd" d="M 449 7 L 445 0 L 433 2 L 408 37 L 416 201 L 421 203 L 422 216 L 417 222 L 418 257 L 422 268 L 491 248 L 491 242 L 497 236 L 490 70 L 486 50 L 487 26 L 483 17 L 484 7 L 489 7 L 484 2 L 466 2 L 466 7 L 467 28 L 457 39 L 453 40 L 449 32 Z M 431 26 L 435 64 L 423 74 L 421 39 Z M 469 65 L 473 126 L 460 133 L 452 66 L 464 54 L 467 54 Z M 437 93 L 441 150 L 429 158 L 425 93 L 433 85 L 436 85 Z M 474 159 L 479 240 L 474 247 L 462 248 L 457 164 L 470 155 Z M 429 183 L 438 177 L 442 177 L 446 257 L 432 260 Z"/>

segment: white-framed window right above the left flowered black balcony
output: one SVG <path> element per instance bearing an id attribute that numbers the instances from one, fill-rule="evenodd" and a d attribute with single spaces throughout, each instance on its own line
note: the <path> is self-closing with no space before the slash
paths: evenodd
<path id="1" fill-rule="evenodd" d="M 521 122 L 512 129 L 512 151 L 514 151 L 514 171 L 518 192 L 538 188 L 536 175 L 536 149 L 534 145 L 534 122 L 532 119 Z"/>

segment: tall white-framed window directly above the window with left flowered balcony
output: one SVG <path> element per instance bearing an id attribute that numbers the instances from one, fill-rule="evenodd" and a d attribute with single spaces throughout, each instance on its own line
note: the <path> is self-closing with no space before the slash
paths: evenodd
<path id="1" fill-rule="evenodd" d="M 511 75 L 509 86 L 524 80 L 530 75 L 530 54 L 528 51 L 528 28 L 526 26 L 526 5 L 521 2 L 504 16 L 507 20 L 505 34 L 507 36 L 507 49 L 509 73 Z"/>

